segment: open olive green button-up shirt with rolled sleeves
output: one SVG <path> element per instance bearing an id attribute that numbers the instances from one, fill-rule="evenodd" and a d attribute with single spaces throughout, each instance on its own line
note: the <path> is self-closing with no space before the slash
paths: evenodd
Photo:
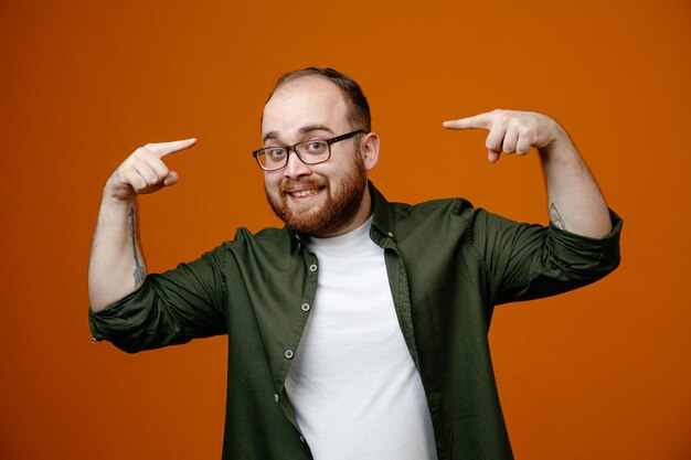
<path id="1" fill-rule="evenodd" d="M 488 344 L 496 304 L 564 292 L 619 263 L 621 221 L 602 239 L 519 224 L 463 199 L 389 203 L 370 184 L 401 331 L 425 388 L 439 459 L 512 459 Z M 94 339 L 127 352 L 228 336 L 224 459 L 310 459 L 285 391 L 319 260 L 290 228 L 237 231 L 190 264 L 149 275 L 89 312 Z M 372 350 L 372 353 L 376 353 Z M 382 356 L 385 359 L 385 356 Z M 348 407 L 343 407 L 348 410 Z"/>

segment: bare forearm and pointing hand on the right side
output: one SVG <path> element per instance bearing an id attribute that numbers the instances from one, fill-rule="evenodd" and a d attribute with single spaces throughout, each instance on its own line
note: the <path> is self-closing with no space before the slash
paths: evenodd
<path id="1" fill-rule="evenodd" d="M 447 129 L 487 129 L 488 160 L 501 153 L 527 154 L 538 149 L 548 186 L 552 223 L 568 232 L 602 238 L 612 231 L 609 211 L 591 170 L 568 133 L 554 119 L 533 111 L 492 110 L 444 121 Z"/>

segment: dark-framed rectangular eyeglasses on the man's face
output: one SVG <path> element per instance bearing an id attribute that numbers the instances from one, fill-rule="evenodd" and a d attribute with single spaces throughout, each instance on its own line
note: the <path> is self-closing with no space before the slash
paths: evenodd
<path id="1" fill-rule="evenodd" d="M 293 146 L 265 147 L 252 152 L 264 171 L 276 171 L 288 164 L 290 152 L 295 152 L 305 164 L 323 163 L 331 158 L 331 145 L 341 140 L 350 139 L 355 135 L 364 135 L 366 131 L 358 129 L 331 139 L 310 139 Z"/>

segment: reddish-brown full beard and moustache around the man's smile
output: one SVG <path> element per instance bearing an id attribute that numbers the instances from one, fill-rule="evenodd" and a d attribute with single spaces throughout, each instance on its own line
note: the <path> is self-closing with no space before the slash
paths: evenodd
<path id="1" fill-rule="evenodd" d="M 296 185 L 323 189 L 326 201 L 319 207 L 291 207 L 286 196 L 286 190 Z M 366 171 L 362 157 L 355 154 L 355 165 L 339 179 L 339 192 L 332 194 L 329 181 L 323 178 L 307 178 L 302 180 L 284 179 L 280 183 L 278 196 L 272 196 L 266 190 L 266 199 L 272 210 L 290 228 L 307 235 L 330 235 L 348 226 L 360 206 L 368 184 Z"/>

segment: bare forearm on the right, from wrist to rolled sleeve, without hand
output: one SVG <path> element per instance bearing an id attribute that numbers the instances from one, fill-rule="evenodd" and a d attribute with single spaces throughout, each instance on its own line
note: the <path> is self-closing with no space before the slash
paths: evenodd
<path id="1" fill-rule="evenodd" d="M 560 126 L 555 140 L 540 148 L 550 220 L 568 232 L 602 238 L 612 231 L 603 194 L 568 135 Z"/>

